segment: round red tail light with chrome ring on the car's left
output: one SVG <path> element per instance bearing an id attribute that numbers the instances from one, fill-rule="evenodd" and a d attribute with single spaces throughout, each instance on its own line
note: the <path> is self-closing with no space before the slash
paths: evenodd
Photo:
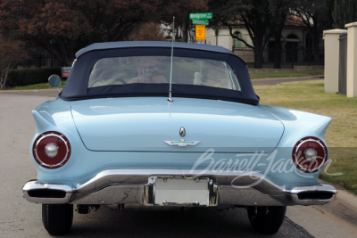
<path id="1" fill-rule="evenodd" d="M 70 159 L 71 144 L 55 131 L 38 135 L 32 148 L 37 163 L 44 168 L 60 168 Z"/>

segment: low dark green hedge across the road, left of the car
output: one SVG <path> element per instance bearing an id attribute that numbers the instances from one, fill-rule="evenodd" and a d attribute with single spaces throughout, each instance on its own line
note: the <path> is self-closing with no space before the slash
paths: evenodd
<path id="1" fill-rule="evenodd" d="M 61 68 L 12 70 L 8 76 L 7 85 L 12 87 L 46 83 L 53 74 L 61 76 Z"/>

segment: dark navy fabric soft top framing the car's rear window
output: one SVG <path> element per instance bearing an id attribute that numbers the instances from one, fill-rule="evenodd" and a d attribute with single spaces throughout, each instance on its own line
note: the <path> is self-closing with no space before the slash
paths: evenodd
<path id="1" fill-rule="evenodd" d="M 77 54 L 70 77 L 60 97 L 66 101 L 104 97 L 165 96 L 169 95 L 169 84 L 127 84 L 88 88 L 88 79 L 95 62 L 102 58 L 126 56 L 170 56 L 171 43 L 161 41 L 108 42 L 88 45 Z M 173 55 L 227 62 L 235 70 L 241 91 L 212 86 L 172 85 L 172 97 L 204 98 L 238 103 L 258 104 L 245 62 L 234 53 L 220 46 L 191 43 L 174 43 Z"/>

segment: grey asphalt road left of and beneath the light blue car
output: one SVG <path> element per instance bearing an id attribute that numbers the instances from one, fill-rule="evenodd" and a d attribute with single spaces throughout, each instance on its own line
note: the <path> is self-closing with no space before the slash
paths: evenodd
<path id="1" fill-rule="evenodd" d="M 50 237 L 42 225 L 41 205 L 29 203 L 21 196 L 22 185 L 36 178 L 36 169 L 29 160 L 29 142 L 35 132 L 30 111 L 48 100 L 54 97 L 0 94 L 0 237 Z M 286 217 L 278 234 L 270 237 L 313 237 L 292 220 L 309 227 L 314 236 L 353 237 L 345 226 L 323 217 L 315 208 L 290 207 L 287 216 L 291 219 Z M 311 228 L 311 224 L 316 226 Z M 107 207 L 88 215 L 75 213 L 68 236 L 262 237 L 253 231 L 245 209 L 117 212 Z"/>

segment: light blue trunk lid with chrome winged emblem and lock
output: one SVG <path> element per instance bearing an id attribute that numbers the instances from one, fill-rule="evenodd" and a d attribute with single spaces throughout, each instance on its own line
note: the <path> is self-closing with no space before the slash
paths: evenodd
<path id="1" fill-rule="evenodd" d="M 79 135 L 91 151 L 272 152 L 283 135 L 280 120 L 260 107 L 216 100 L 163 97 L 104 98 L 73 103 Z M 184 127 L 185 136 L 179 135 Z M 199 141 L 170 146 L 165 141 Z"/>

